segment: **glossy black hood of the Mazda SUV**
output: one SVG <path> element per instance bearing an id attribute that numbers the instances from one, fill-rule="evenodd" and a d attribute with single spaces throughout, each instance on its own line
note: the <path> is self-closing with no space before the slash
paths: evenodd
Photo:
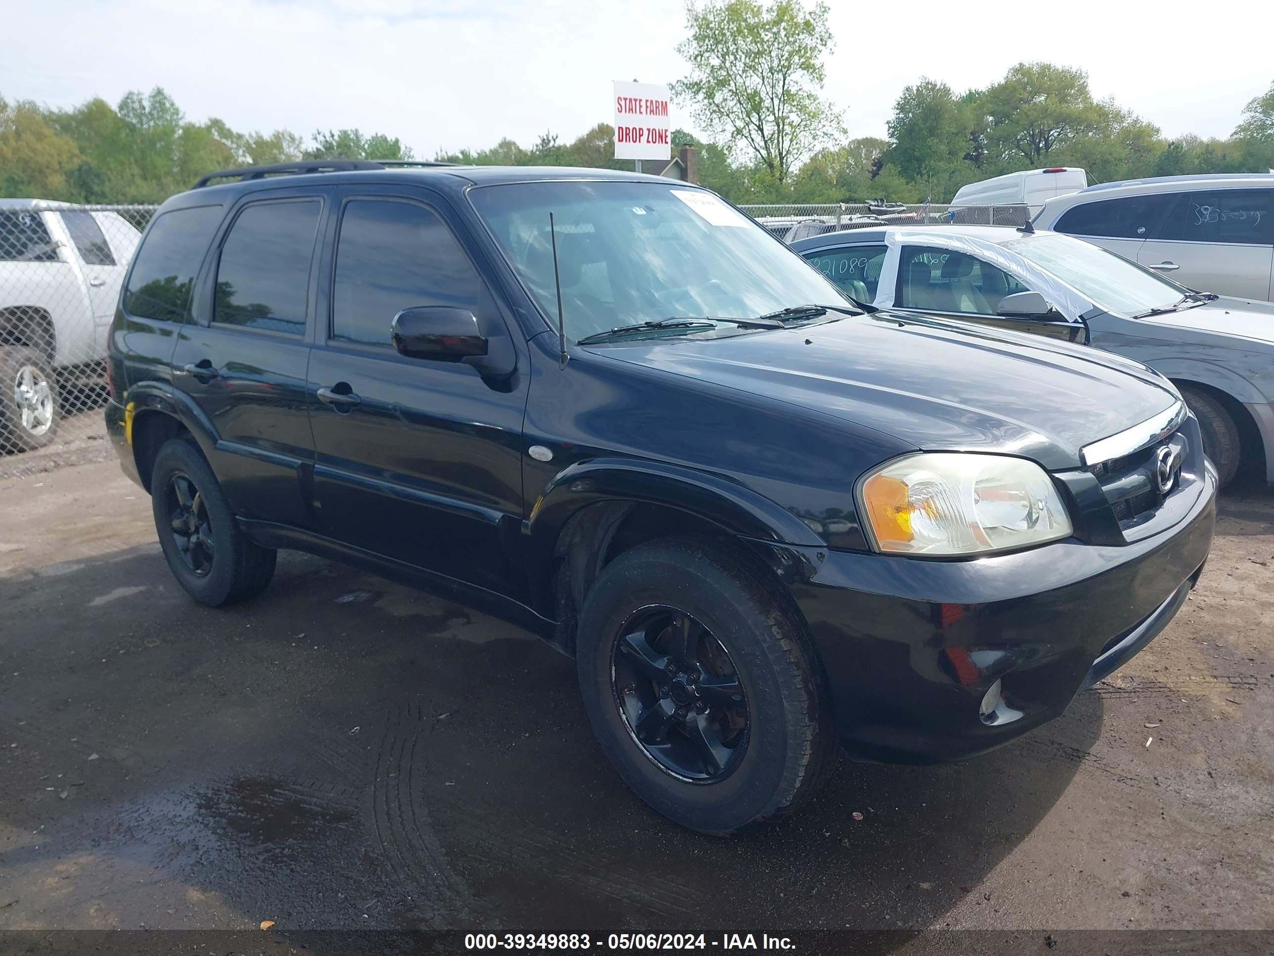
<path id="1" fill-rule="evenodd" d="M 1078 467 L 1084 445 L 1177 400 L 1156 372 L 1108 352 L 911 314 L 598 353 L 766 394 L 916 449 L 1022 455 L 1049 469 Z"/>

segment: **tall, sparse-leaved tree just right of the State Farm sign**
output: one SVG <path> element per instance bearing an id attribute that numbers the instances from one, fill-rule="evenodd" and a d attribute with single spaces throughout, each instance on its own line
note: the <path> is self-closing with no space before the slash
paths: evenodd
<path id="1" fill-rule="evenodd" d="M 711 0 L 685 8 L 689 36 L 676 51 L 691 65 L 673 96 L 692 105 L 719 143 L 739 144 L 776 182 L 841 131 L 822 97 L 832 50 L 827 5 L 800 0 Z M 731 149 L 733 152 L 733 149 Z"/>

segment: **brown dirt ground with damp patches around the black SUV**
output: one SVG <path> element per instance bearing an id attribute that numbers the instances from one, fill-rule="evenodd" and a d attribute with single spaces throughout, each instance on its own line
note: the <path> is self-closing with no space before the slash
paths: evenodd
<path id="1" fill-rule="evenodd" d="M 623 786 L 538 639 L 299 554 L 199 607 L 145 493 L 62 464 L 0 479 L 0 929 L 1274 927 L 1264 488 L 1060 720 L 961 765 L 841 761 L 716 840 Z"/>

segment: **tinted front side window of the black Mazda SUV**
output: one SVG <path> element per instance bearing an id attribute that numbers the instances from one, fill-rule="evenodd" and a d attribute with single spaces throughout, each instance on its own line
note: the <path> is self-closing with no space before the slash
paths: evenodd
<path id="1" fill-rule="evenodd" d="M 433 210 L 415 203 L 354 199 L 336 240 L 331 337 L 389 345 L 404 308 L 454 306 L 482 314 L 478 270 Z"/>

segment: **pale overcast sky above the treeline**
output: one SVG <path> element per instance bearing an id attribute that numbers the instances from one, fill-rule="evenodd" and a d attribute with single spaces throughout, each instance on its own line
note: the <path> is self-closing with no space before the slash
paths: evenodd
<path id="1" fill-rule="evenodd" d="M 901 89 L 957 92 L 1019 60 L 1089 73 L 1167 135 L 1228 135 L 1274 80 L 1270 0 L 1206 5 L 832 0 L 827 94 L 854 136 L 885 133 Z M 0 94 L 68 107 L 164 87 L 196 121 L 357 126 L 417 157 L 502 136 L 563 140 L 613 119 L 610 80 L 666 83 L 684 64 L 680 0 L 15 0 Z M 962 8 L 967 13 L 962 13 Z M 18 41 L 18 42 L 15 42 Z M 674 105 L 673 126 L 693 124 Z"/>

